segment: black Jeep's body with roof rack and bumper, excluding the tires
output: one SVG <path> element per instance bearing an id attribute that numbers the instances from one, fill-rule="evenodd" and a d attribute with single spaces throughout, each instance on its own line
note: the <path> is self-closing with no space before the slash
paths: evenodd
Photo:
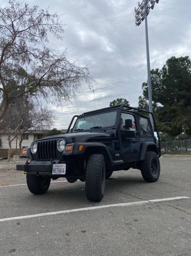
<path id="1" fill-rule="evenodd" d="M 31 160 L 26 164 L 18 164 L 16 168 L 27 175 L 52 179 L 66 177 L 69 182 L 77 179 L 85 181 L 88 159 L 97 154 L 103 156 L 106 176 L 117 170 L 142 170 L 147 152 L 154 152 L 155 156 L 160 157 L 159 133 L 153 117 L 156 139 L 149 114 L 153 117 L 146 110 L 118 105 L 75 115 L 66 134 L 33 142 L 36 152 L 32 154 L 28 148 L 27 154 Z M 64 149 L 59 150 L 58 144 Z M 56 171 L 59 171 L 61 164 L 65 164 L 65 172 L 61 168 L 60 174 L 54 175 L 53 167 L 56 164 Z"/>

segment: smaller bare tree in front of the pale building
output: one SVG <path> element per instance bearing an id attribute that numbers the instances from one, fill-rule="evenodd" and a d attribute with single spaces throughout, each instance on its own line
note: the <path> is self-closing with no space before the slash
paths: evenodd
<path id="1" fill-rule="evenodd" d="M 14 100 L 0 123 L 0 129 L 7 135 L 9 142 L 8 160 L 11 157 L 12 142 L 19 139 L 19 149 L 22 148 L 24 134 L 28 130 L 49 129 L 52 125 L 52 112 L 36 104 L 27 95 Z M 19 150 L 19 151 L 20 151 Z"/>

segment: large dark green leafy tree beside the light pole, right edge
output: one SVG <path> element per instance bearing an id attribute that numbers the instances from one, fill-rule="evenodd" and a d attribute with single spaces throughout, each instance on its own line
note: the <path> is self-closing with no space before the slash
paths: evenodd
<path id="1" fill-rule="evenodd" d="M 177 136 L 191 135 L 191 60 L 188 56 L 171 57 L 162 69 L 151 71 L 154 114 L 160 131 Z M 148 108 L 147 82 L 139 107 Z"/>

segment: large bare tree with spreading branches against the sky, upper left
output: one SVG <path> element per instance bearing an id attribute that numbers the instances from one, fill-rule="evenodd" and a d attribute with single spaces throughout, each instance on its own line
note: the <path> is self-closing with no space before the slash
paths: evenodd
<path id="1" fill-rule="evenodd" d="M 49 10 L 14 0 L 0 7 L 0 121 L 14 98 L 31 94 L 61 103 L 75 96 L 82 81 L 90 85 L 87 67 L 47 46 L 48 35 L 62 40 L 62 33 L 58 16 Z"/>

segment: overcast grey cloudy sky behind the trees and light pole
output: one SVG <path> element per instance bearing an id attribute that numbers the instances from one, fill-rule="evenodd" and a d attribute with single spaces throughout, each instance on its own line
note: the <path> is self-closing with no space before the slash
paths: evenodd
<path id="1" fill-rule="evenodd" d="M 6 1 L 4 1 L 6 2 Z M 147 80 L 145 24 L 135 27 L 136 0 L 27 0 L 61 15 L 66 23 L 61 44 L 70 60 L 87 64 L 94 77 L 94 94 L 82 84 L 80 94 L 63 108 L 51 106 L 53 127 L 64 129 L 74 114 L 104 108 L 114 98 L 137 106 L 142 82 Z M 171 56 L 191 55 L 191 1 L 160 0 L 148 16 L 151 69 L 160 68 Z M 94 100 L 95 98 L 95 100 Z"/>

